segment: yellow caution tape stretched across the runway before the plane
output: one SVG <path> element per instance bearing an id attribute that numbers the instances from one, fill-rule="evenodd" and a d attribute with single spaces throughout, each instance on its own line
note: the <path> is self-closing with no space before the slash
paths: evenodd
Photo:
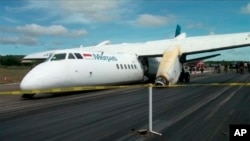
<path id="1" fill-rule="evenodd" d="M 134 88 L 136 87 L 175 88 L 175 87 L 192 87 L 192 86 L 250 86 L 250 83 L 176 84 L 176 85 L 169 85 L 169 86 L 155 86 L 153 84 L 118 85 L 118 86 L 83 86 L 83 87 L 41 89 L 41 90 L 3 91 L 3 92 L 0 92 L 0 95 L 63 93 L 63 92 L 76 92 L 76 91 L 87 91 L 87 90 L 122 89 L 122 88 L 133 88 L 133 87 Z"/>

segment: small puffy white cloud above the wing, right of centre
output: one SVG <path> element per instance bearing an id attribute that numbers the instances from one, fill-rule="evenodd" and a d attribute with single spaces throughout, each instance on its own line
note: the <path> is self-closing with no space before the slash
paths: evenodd
<path id="1" fill-rule="evenodd" d="M 159 27 L 168 24 L 172 20 L 174 20 L 174 16 L 142 14 L 135 20 L 135 23 L 145 27 Z"/>

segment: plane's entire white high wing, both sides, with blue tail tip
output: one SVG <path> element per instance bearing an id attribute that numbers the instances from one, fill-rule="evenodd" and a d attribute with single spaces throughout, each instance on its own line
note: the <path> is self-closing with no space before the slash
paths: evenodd
<path id="1" fill-rule="evenodd" d="M 182 62 L 186 62 L 186 56 L 190 54 L 213 52 L 219 50 L 240 48 L 250 46 L 250 32 L 186 37 L 185 33 L 180 33 L 177 25 L 176 37 L 173 39 L 148 41 L 144 43 L 122 43 L 110 44 L 109 41 L 100 43 L 97 46 L 78 48 L 83 51 L 101 51 L 110 53 L 131 53 L 138 57 L 161 57 L 164 52 L 179 48 L 179 55 Z M 73 48 L 74 50 L 76 48 Z M 24 60 L 46 59 L 49 54 L 55 52 L 47 51 L 25 56 Z"/>

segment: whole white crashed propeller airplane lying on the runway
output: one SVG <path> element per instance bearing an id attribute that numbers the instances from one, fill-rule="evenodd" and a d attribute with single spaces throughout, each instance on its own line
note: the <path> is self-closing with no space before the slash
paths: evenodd
<path id="1" fill-rule="evenodd" d="M 47 60 L 27 73 L 20 87 L 33 90 L 124 84 L 152 76 L 157 85 L 173 85 L 178 80 L 189 82 L 184 63 L 218 54 L 192 60 L 187 60 L 187 55 L 246 46 L 250 46 L 250 32 L 187 38 L 177 25 L 173 39 L 114 45 L 104 41 L 97 46 L 27 55 L 24 60 Z M 48 54 L 52 55 L 48 58 Z"/>

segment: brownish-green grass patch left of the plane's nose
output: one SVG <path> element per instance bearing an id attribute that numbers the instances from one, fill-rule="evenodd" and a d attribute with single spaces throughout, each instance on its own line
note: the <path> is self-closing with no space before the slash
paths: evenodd
<path id="1" fill-rule="evenodd" d="M 31 67 L 27 66 L 0 66 L 0 84 L 20 83 L 29 70 Z"/>

